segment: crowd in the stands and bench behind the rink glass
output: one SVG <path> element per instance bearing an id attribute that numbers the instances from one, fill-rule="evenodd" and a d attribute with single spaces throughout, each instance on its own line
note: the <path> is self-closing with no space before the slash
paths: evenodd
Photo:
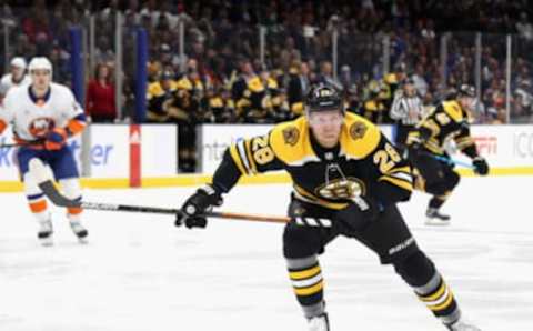
<path id="1" fill-rule="evenodd" d="M 69 27 L 88 27 L 88 17 L 94 14 L 93 54 L 98 69 L 88 70 L 86 108 L 94 121 L 112 121 L 117 113 L 111 97 L 114 12 L 120 10 L 125 37 L 123 109 L 132 110 L 134 102 L 131 33 L 143 27 L 150 41 L 148 120 L 173 121 L 183 127 L 205 121 L 272 122 L 292 118 L 302 112 L 306 87 L 318 81 L 330 81 L 342 89 L 351 110 L 386 121 L 399 78 L 411 77 L 428 107 L 443 98 L 450 87 L 475 84 L 476 32 L 481 31 L 482 89 L 476 120 L 500 123 L 506 122 L 505 33 L 513 36 L 511 119 L 533 118 L 533 68 L 529 60 L 533 51 L 533 14 L 527 3 L 34 0 L 4 1 L 0 17 L 3 24 L 10 26 L 8 56 L 48 56 L 54 66 L 54 79 L 68 83 Z M 179 22 L 184 22 L 185 58 L 179 56 Z M 260 24 L 265 29 L 263 62 Z M 334 32 L 338 68 L 332 68 Z M 388 50 L 385 37 L 390 41 Z M 447 50 L 444 66 L 443 39 Z M 6 51 L 0 53 L 0 60 L 6 61 Z M 386 53 L 390 72 L 383 72 Z"/>

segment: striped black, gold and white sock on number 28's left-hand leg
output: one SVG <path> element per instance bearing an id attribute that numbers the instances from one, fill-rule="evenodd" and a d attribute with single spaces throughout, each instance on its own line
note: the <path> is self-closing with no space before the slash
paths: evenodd
<path id="1" fill-rule="evenodd" d="M 286 259 L 289 277 L 306 318 L 324 313 L 323 279 L 316 255 Z"/>

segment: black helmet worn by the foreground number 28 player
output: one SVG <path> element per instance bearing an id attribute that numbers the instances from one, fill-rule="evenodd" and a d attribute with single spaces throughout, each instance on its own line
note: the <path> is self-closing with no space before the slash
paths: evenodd
<path id="1" fill-rule="evenodd" d="M 305 97 L 305 103 L 309 112 L 340 110 L 344 113 L 341 92 L 331 84 L 312 86 Z"/>

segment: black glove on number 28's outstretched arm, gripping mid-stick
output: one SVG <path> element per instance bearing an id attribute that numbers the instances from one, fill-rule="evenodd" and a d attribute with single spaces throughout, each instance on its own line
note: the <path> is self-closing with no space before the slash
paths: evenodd
<path id="1" fill-rule="evenodd" d="M 222 197 L 213 187 L 202 187 L 183 203 L 181 207 L 182 213 L 179 213 L 175 218 L 175 225 L 180 227 L 184 223 L 189 229 L 205 228 L 208 224 L 205 212 L 213 207 L 222 205 Z"/>

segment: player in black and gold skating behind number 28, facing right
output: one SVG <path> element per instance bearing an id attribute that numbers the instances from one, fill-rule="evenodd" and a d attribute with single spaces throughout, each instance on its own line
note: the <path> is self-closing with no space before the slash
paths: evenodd
<path id="1" fill-rule="evenodd" d="M 416 187 L 433 195 L 425 212 L 426 224 L 450 223 L 450 215 L 442 214 L 440 208 L 457 185 L 460 175 L 453 165 L 438 160 L 439 157 L 449 158 L 444 149 L 449 141 L 454 140 L 456 148 L 472 159 L 475 173 L 489 173 L 489 164 L 477 153 L 470 136 L 470 111 L 474 102 L 474 87 L 463 84 L 454 98 L 439 103 L 409 133 L 410 159 L 418 173 Z"/>

